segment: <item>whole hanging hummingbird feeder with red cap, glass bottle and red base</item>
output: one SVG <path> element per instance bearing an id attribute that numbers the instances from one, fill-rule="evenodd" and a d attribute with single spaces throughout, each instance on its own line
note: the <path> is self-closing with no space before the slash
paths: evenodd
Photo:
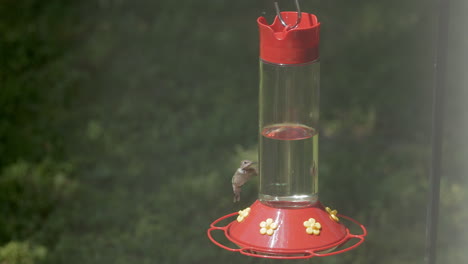
<path id="1" fill-rule="evenodd" d="M 313 14 L 280 12 L 260 31 L 258 200 L 214 221 L 209 239 L 244 255 L 303 259 L 349 251 L 367 235 L 356 220 L 318 199 L 319 28 Z M 220 222 L 234 221 L 225 226 Z M 344 221 L 357 225 L 352 234 Z M 222 231 L 237 247 L 213 238 Z M 348 243 L 349 242 L 349 243 Z M 346 245 L 345 245 L 346 244 Z M 351 244 L 351 245 L 349 245 Z"/>

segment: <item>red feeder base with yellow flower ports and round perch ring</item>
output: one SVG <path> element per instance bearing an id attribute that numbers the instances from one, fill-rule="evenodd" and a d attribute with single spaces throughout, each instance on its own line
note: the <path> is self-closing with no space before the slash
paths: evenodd
<path id="1" fill-rule="evenodd" d="M 237 219 L 226 226 L 217 224 L 227 218 Z M 362 234 L 351 234 L 340 221 L 351 221 L 362 229 Z M 211 232 L 224 231 L 224 235 L 239 248 L 230 248 L 216 241 Z M 366 228 L 336 211 L 326 210 L 322 204 L 306 208 L 275 208 L 258 200 L 249 208 L 225 215 L 214 221 L 208 229 L 208 238 L 217 246 L 241 254 L 276 259 L 301 259 L 336 255 L 359 246 L 367 235 Z M 350 239 L 358 241 L 343 246 Z"/>

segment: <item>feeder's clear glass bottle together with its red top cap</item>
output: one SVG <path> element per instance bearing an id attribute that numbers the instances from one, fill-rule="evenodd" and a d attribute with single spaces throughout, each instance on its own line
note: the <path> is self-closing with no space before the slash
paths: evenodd
<path id="1" fill-rule="evenodd" d="M 282 17 L 293 23 L 295 14 Z M 319 23 L 312 14 L 303 16 L 301 28 L 292 31 L 259 19 L 259 200 L 270 206 L 318 200 Z"/>

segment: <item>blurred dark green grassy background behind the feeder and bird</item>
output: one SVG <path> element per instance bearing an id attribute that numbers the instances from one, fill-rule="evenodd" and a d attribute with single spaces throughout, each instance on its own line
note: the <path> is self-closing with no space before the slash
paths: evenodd
<path id="1" fill-rule="evenodd" d="M 438 263 L 465 263 L 468 6 L 451 2 Z M 437 1 L 301 6 L 322 23 L 321 200 L 369 236 L 294 262 L 424 263 Z M 233 204 L 230 178 L 256 159 L 255 21 L 273 14 L 271 0 L 0 1 L 0 263 L 286 263 L 206 237 L 256 199 L 252 182 Z"/>

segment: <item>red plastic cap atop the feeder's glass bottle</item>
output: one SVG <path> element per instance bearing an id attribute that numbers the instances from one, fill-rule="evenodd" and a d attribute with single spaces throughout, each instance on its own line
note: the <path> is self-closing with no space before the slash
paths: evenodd
<path id="1" fill-rule="evenodd" d="M 281 12 L 288 25 L 297 21 L 297 12 Z M 320 23 L 313 14 L 302 13 L 295 28 L 285 27 L 278 17 L 268 25 L 264 17 L 257 20 L 260 30 L 260 58 L 275 64 L 302 64 L 319 58 Z"/>

